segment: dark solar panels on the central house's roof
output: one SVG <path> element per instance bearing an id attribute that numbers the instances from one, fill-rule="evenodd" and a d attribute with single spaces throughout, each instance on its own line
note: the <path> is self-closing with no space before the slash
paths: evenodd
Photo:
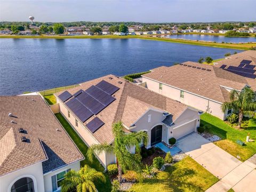
<path id="1" fill-rule="evenodd" d="M 87 90 L 79 90 L 71 95 L 68 91 L 59 95 L 60 99 L 65 102 L 70 99 L 66 105 L 73 113 L 84 123 L 93 115 L 97 115 L 101 110 L 106 108 L 115 98 L 111 94 L 119 90 L 119 87 L 106 81 L 101 81 L 97 85 L 90 86 Z M 72 98 L 73 97 L 73 98 Z M 92 133 L 97 131 L 104 122 L 95 117 L 87 123 L 87 127 Z"/>

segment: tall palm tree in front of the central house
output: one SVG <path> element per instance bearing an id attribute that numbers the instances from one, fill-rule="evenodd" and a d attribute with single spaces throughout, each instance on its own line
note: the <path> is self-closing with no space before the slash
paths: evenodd
<path id="1" fill-rule="evenodd" d="M 148 135 L 146 132 L 124 132 L 124 127 L 121 122 L 113 125 L 113 134 L 115 137 L 113 145 L 103 143 L 101 145 L 92 145 L 87 150 L 87 156 L 92 161 L 93 153 L 99 155 L 103 151 L 106 153 L 114 153 L 116 155 L 116 163 L 118 167 L 118 180 L 122 181 L 122 170 L 134 170 L 141 172 L 142 163 L 140 157 L 140 143 L 143 141 L 144 145 L 147 145 Z M 135 146 L 135 150 L 138 154 L 131 154 L 129 149 Z"/>

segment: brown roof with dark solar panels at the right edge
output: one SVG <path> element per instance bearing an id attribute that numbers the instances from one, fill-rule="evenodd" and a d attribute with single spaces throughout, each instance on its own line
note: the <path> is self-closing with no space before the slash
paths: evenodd
<path id="1" fill-rule="evenodd" d="M 249 50 L 229 55 L 223 60 L 214 62 L 214 67 L 256 79 L 256 51 Z"/>

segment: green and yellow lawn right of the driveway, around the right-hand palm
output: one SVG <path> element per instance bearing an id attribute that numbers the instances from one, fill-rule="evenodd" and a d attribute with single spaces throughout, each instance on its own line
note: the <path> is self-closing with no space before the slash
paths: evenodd
<path id="1" fill-rule="evenodd" d="M 203 114 L 201 116 L 201 123 L 209 127 L 208 132 L 213 133 L 221 137 L 222 140 L 214 142 L 215 145 L 226 150 L 229 154 L 236 157 L 240 156 L 241 161 L 245 161 L 256 153 L 256 118 L 249 120 L 248 127 L 244 127 L 241 130 L 235 129 L 223 122 L 218 117 L 214 117 L 210 114 Z M 254 142 L 246 143 L 246 146 L 240 146 L 236 143 L 236 140 L 245 141 L 247 134 L 250 133 L 250 138 L 254 139 Z"/>

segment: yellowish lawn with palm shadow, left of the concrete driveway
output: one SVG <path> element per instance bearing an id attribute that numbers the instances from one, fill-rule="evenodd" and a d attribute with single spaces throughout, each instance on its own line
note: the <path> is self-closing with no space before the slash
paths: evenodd
<path id="1" fill-rule="evenodd" d="M 130 191 L 205 191 L 218 180 L 191 157 L 185 157 L 159 172 L 156 179 L 145 179 L 134 184 Z"/>

